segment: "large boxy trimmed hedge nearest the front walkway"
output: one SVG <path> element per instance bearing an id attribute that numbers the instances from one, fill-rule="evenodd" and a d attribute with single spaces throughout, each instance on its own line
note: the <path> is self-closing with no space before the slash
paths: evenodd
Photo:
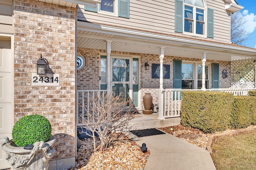
<path id="1" fill-rule="evenodd" d="M 223 131 L 230 125 L 233 94 L 183 91 L 181 124 L 205 133 Z"/>

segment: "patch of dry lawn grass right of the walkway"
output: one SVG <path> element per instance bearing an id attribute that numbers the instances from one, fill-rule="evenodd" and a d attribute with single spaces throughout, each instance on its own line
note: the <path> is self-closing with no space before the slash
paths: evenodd
<path id="1" fill-rule="evenodd" d="M 218 137 L 212 150 L 217 170 L 256 170 L 256 130 Z"/>

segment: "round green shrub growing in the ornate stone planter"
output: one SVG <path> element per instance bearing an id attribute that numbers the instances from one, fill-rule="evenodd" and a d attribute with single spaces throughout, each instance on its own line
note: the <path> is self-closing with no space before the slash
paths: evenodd
<path id="1" fill-rule="evenodd" d="M 36 141 L 48 141 L 52 126 L 41 115 L 27 115 L 18 120 L 12 129 L 12 139 L 17 146 L 33 145 Z"/>

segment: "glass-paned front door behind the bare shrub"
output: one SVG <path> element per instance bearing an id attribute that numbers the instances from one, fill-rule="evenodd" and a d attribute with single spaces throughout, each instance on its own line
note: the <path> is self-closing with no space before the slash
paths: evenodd
<path id="1" fill-rule="evenodd" d="M 123 99 L 132 99 L 131 58 L 111 57 L 110 81 L 113 95 Z"/>

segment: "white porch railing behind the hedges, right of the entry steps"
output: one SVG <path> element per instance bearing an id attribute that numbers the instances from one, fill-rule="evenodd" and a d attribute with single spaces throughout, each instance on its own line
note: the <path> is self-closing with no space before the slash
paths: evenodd
<path id="1" fill-rule="evenodd" d="M 163 109 L 159 109 L 159 119 L 169 118 L 169 117 L 180 117 L 180 108 L 181 108 L 181 92 L 182 91 L 218 91 L 218 92 L 227 92 L 232 93 L 234 96 L 246 96 L 248 91 L 256 89 L 206 89 L 206 90 L 184 90 L 184 89 L 165 89 L 160 92 L 163 95 L 159 95 L 160 106 Z M 162 106 L 161 106 L 162 103 Z M 160 113 L 162 110 L 162 113 Z"/>

